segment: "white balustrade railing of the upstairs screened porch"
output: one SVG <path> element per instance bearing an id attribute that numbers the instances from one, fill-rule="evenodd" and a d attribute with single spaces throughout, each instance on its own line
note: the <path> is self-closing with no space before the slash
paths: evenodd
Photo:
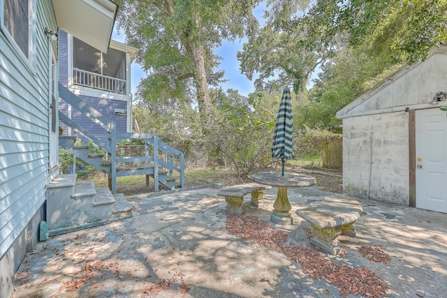
<path id="1" fill-rule="evenodd" d="M 108 92 L 126 94 L 126 80 L 73 68 L 73 84 Z"/>

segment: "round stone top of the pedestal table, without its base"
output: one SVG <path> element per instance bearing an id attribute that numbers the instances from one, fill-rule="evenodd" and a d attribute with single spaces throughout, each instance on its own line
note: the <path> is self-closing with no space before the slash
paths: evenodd
<path id="1" fill-rule="evenodd" d="M 251 174 L 249 178 L 270 186 L 306 187 L 316 183 L 316 179 L 312 176 L 293 172 L 285 172 L 284 176 L 281 176 L 281 172 L 261 172 Z"/>

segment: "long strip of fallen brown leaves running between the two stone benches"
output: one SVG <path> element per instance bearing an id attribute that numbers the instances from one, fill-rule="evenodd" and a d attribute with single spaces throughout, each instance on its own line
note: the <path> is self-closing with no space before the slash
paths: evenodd
<path id="1" fill-rule="evenodd" d="M 228 214 L 226 228 L 230 234 L 284 253 L 288 260 L 299 262 L 308 276 L 324 278 L 328 283 L 337 286 L 339 294 L 343 297 L 348 297 L 349 294 L 386 297 L 388 287 L 373 271 L 365 267 L 335 264 L 308 248 L 284 246 L 281 242 L 287 241 L 286 232 L 274 229 L 254 216 Z"/>

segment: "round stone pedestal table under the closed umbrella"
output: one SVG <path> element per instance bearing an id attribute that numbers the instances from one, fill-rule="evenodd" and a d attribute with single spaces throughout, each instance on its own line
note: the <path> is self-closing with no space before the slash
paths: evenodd
<path id="1" fill-rule="evenodd" d="M 273 204 L 273 212 L 270 219 L 279 225 L 292 225 L 291 204 L 288 202 L 287 189 L 289 187 L 307 187 L 315 184 L 314 177 L 300 173 L 260 172 L 251 174 L 252 181 L 260 184 L 276 186 L 278 188 L 277 199 Z"/>

